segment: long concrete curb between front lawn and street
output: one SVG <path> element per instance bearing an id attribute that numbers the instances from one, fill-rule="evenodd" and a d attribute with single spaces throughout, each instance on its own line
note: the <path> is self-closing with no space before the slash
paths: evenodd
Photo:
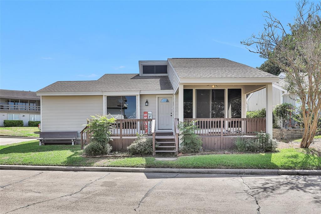
<path id="1" fill-rule="evenodd" d="M 0 165 L 0 170 L 49 170 L 86 172 L 138 172 L 138 173 L 197 173 L 197 174 L 252 174 L 252 175 L 321 175 L 321 170 L 297 169 L 175 169 L 175 168 L 127 168 L 96 166 L 26 166 Z"/>

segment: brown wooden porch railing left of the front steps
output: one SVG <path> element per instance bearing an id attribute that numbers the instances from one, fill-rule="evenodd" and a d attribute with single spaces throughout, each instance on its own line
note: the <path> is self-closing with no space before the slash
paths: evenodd
<path id="1" fill-rule="evenodd" d="M 136 133 L 146 134 L 153 138 L 153 148 L 155 147 L 155 119 L 119 119 L 112 123 L 110 129 L 112 137 L 134 137 Z M 92 131 L 86 126 L 80 131 L 81 148 L 90 143 Z"/>

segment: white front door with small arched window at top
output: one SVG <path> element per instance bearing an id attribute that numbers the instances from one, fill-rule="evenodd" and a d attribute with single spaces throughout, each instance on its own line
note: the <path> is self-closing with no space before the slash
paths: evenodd
<path id="1" fill-rule="evenodd" d="M 158 129 L 172 129 L 172 97 L 158 97 Z"/>

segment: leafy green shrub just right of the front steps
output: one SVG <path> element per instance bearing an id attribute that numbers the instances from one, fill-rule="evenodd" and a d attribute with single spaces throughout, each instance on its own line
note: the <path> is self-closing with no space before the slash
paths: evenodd
<path id="1" fill-rule="evenodd" d="M 195 121 L 185 121 L 178 124 L 179 135 L 182 136 L 180 151 L 183 153 L 196 153 L 202 150 L 203 142 L 200 137 L 195 134 L 197 126 Z"/>

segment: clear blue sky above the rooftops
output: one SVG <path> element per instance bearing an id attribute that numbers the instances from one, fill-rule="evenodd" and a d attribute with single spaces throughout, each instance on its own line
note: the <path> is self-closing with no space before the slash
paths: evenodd
<path id="1" fill-rule="evenodd" d="M 240 44 L 265 10 L 293 23 L 294 1 L 1 1 L 1 89 L 138 73 L 138 60 L 265 60 Z"/>

